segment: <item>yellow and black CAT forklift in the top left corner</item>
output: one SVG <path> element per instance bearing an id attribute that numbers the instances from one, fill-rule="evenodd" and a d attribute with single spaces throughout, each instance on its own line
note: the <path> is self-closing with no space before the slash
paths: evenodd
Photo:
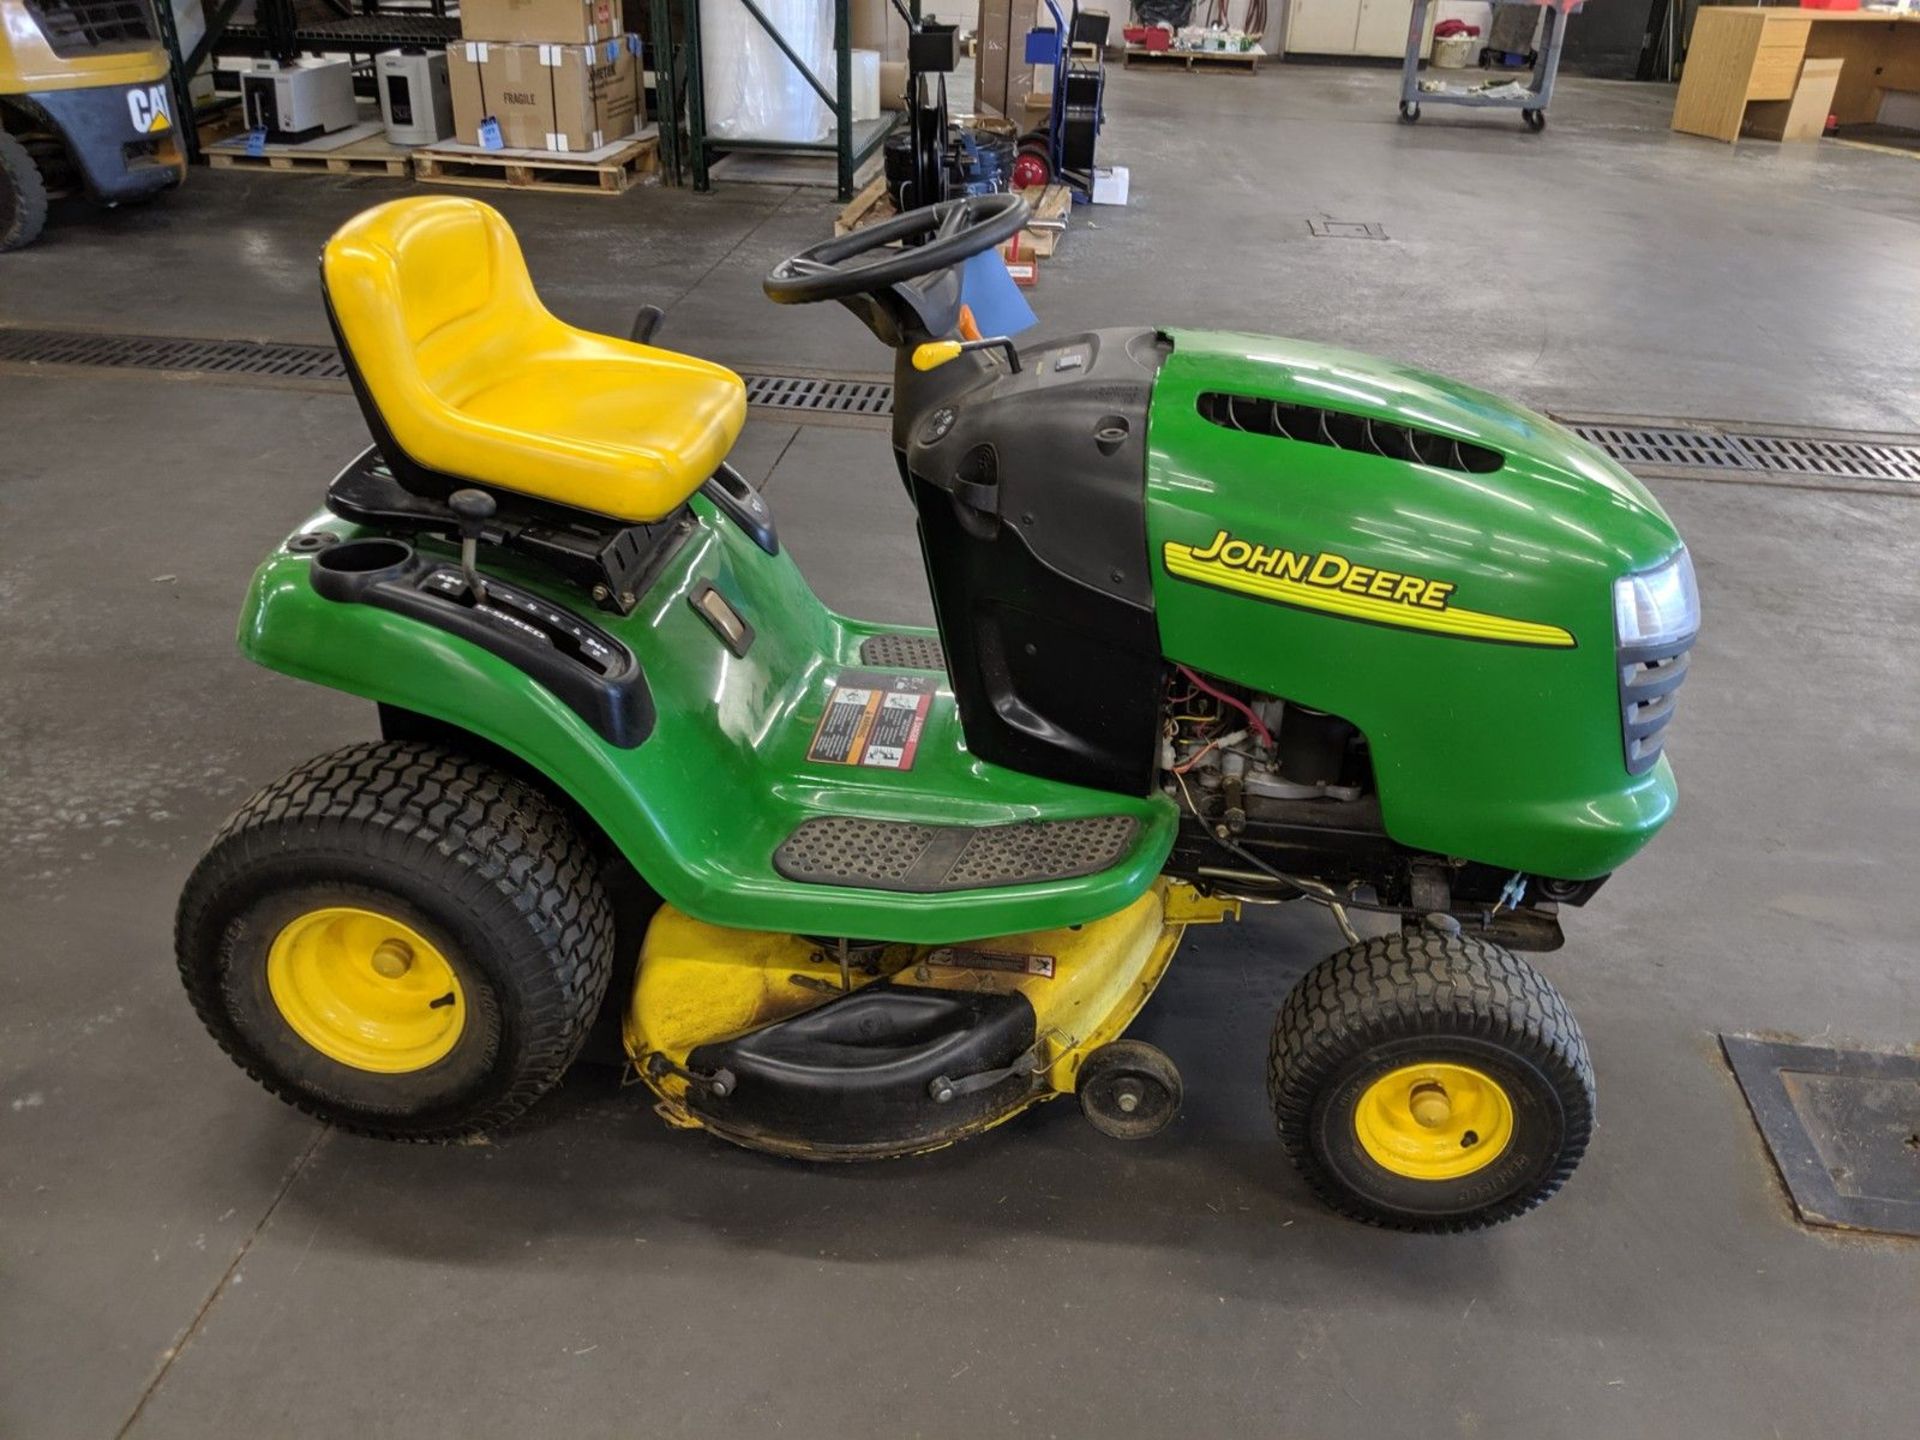
<path id="1" fill-rule="evenodd" d="M 0 250 L 40 234 L 50 194 L 179 184 L 180 123 L 150 0 L 0 0 Z"/>

